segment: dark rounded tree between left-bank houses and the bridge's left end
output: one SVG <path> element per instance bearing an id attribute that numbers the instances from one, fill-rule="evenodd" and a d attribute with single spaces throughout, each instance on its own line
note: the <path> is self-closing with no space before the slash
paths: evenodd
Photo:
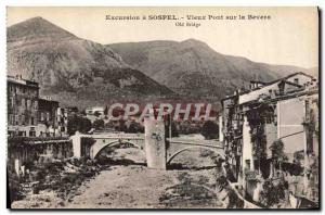
<path id="1" fill-rule="evenodd" d="M 75 135 L 75 132 L 78 130 L 80 132 L 88 132 L 91 129 L 91 122 L 86 118 L 78 115 L 74 115 L 68 117 L 67 123 L 67 132 L 68 135 Z"/>

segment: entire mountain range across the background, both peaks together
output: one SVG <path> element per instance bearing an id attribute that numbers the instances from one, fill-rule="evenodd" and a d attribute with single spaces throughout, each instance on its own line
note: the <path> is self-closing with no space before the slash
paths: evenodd
<path id="1" fill-rule="evenodd" d="M 8 27 L 6 37 L 8 74 L 35 79 L 41 94 L 81 108 L 164 99 L 219 103 L 252 79 L 308 72 L 222 54 L 193 38 L 101 45 L 42 17 Z"/>

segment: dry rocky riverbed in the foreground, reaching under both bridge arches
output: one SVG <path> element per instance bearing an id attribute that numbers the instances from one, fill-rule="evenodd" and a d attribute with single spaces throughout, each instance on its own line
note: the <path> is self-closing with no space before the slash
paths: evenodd
<path id="1" fill-rule="evenodd" d="M 47 189 L 13 203 L 31 208 L 222 208 L 226 193 L 218 192 L 221 169 L 202 151 L 188 152 L 176 160 L 169 170 L 144 165 L 136 149 L 117 149 L 107 165 L 89 178 L 73 194 L 62 197 Z M 190 156 L 188 156 L 190 155 Z M 194 161 L 197 160 L 197 161 Z M 121 164 L 117 161 L 120 161 Z M 122 161 L 128 164 L 122 164 Z M 193 164 L 196 163 L 196 166 Z M 177 167 L 176 167 L 177 166 Z"/>

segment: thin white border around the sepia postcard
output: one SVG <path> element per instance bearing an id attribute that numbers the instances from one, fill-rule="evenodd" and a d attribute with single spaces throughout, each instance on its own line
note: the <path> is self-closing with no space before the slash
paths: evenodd
<path id="1" fill-rule="evenodd" d="M 277 5 L 277 7 L 302 7 L 302 5 L 318 5 L 323 10 L 323 16 L 324 16 L 324 10 L 325 10 L 325 1 L 324 0 L 138 0 L 136 2 L 134 0 L 119 0 L 119 1 L 112 1 L 112 0 L 91 0 L 91 1 L 77 1 L 77 0 L 0 0 L 0 187 L 2 190 L 0 195 L 0 214 L 9 214 L 13 213 L 6 210 L 6 188 L 5 188 L 5 157 L 6 157 L 6 113 L 5 113 L 5 105 L 6 105 L 6 92 L 5 92 L 5 85 L 6 85 L 6 68 L 5 68 L 5 7 L 6 5 L 225 5 L 225 7 L 251 7 L 251 5 Z M 299 14 L 297 14 L 299 15 Z M 322 29 L 324 29 L 324 17 L 322 22 Z M 323 42 L 322 42 L 323 45 Z M 323 46 L 322 46 L 323 47 Z M 324 55 L 322 55 L 322 62 L 324 62 Z M 323 76 L 324 77 L 324 76 Z M 324 78 L 322 78 L 322 83 L 324 83 Z M 324 101 L 324 89 L 322 92 L 322 101 Z M 324 105 L 322 105 L 324 111 Z M 323 118 L 322 118 L 322 123 Z M 324 124 L 323 124 L 324 125 Z M 324 127 L 322 129 L 323 132 Z M 323 136 L 324 138 L 324 136 Z M 322 154 L 324 155 L 324 148 L 322 147 Z M 324 161 L 324 157 L 323 157 Z M 322 187 L 324 187 L 324 163 L 322 165 Z M 324 189 L 322 189 L 323 191 Z M 321 192 L 322 192 L 321 191 Z M 324 206 L 324 192 L 322 192 L 322 206 Z M 34 213 L 29 212 L 29 213 Z M 84 211 L 86 213 L 90 213 L 89 211 Z M 22 212 L 20 212 L 22 213 Z M 24 212 L 28 213 L 28 212 Z M 40 212 L 44 213 L 44 211 Z M 60 214 L 69 214 L 72 212 L 67 211 L 51 211 L 50 213 L 60 213 Z M 74 213 L 82 213 L 81 211 L 77 211 Z M 117 214 L 121 212 L 113 212 L 113 211 L 106 211 L 105 213 L 109 214 Z M 123 213 L 136 213 L 136 212 L 123 212 Z M 138 212 L 139 213 L 139 212 Z M 141 212 L 142 213 L 142 212 Z M 156 213 L 156 212 L 147 212 L 150 214 Z M 170 214 L 187 214 L 186 212 L 169 212 Z M 195 212 L 195 213 L 202 213 L 202 212 Z M 212 213 L 218 214 L 226 214 L 226 213 L 240 213 L 240 212 L 221 212 L 221 211 L 214 211 Z M 246 212 L 247 213 L 247 212 Z M 250 212 L 248 212 L 250 213 Z M 255 213 L 255 212 L 253 212 Z M 278 212 L 277 214 L 285 214 L 286 212 Z M 290 212 L 289 212 L 290 213 Z M 291 212 L 292 213 L 292 212 Z M 295 213 L 295 212 L 294 212 Z M 307 211 L 303 211 L 302 213 L 310 213 Z"/>

